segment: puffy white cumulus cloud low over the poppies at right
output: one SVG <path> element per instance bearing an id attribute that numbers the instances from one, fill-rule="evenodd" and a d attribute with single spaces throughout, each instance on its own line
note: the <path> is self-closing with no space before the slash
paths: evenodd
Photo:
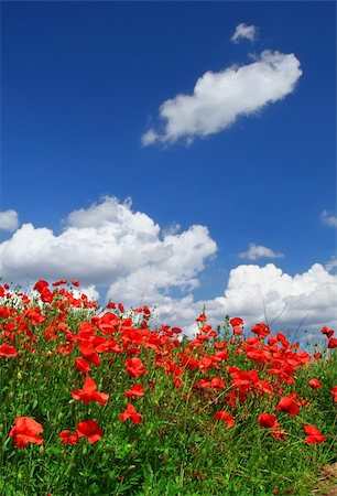
<path id="1" fill-rule="evenodd" d="M 242 265 L 230 271 L 224 295 L 206 301 L 194 301 L 192 295 L 185 300 L 166 298 L 157 313 L 163 321 L 171 319 L 174 325 L 185 325 L 185 332 L 191 335 L 196 331 L 196 325 L 191 325 L 192 319 L 205 306 L 214 326 L 228 314 L 241 316 L 248 328 L 257 322 L 267 322 L 274 332 L 294 336 L 301 327 L 298 338 L 316 339 L 323 325 L 336 328 L 336 301 L 337 274 L 329 273 L 319 263 L 295 276 L 273 263 Z"/>

